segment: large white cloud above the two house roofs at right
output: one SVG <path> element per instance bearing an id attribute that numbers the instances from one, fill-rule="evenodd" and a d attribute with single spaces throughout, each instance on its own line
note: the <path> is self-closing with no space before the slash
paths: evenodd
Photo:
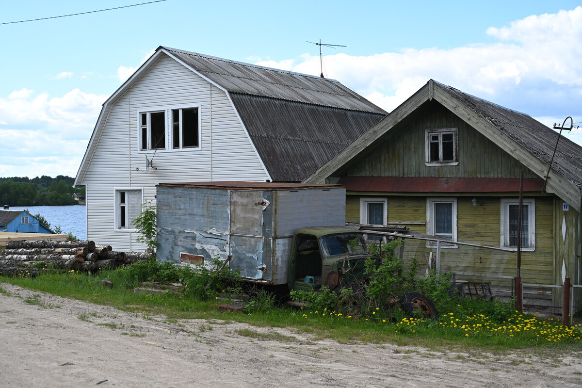
<path id="1" fill-rule="evenodd" d="M 324 74 L 388 111 L 434 79 L 508 108 L 535 110 L 525 113 L 551 115 L 570 109 L 582 114 L 582 7 L 529 16 L 487 32 L 499 42 L 324 56 Z M 320 73 L 318 56 L 258 64 Z"/>

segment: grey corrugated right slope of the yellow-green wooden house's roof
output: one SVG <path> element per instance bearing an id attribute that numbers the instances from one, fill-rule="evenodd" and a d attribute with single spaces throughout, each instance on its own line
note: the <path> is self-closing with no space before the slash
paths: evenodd
<path id="1" fill-rule="evenodd" d="M 503 108 L 503 106 L 473 97 L 450 86 L 438 85 L 452 98 L 457 99 L 457 101 L 495 126 L 496 129 L 526 148 L 541 162 L 549 165 L 559 136 L 557 131 L 550 129 L 525 113 Z M 569 138 L 562 136 L 558 142 L 552 169 L 577 187 L 582 188 L 582 147 L 569 140 Z"/>

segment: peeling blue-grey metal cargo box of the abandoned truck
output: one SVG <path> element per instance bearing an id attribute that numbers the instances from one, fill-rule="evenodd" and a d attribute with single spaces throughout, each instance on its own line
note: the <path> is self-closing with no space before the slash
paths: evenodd
<path id="1" fill-rule="evenodd" d="M 346 190 L 330 184 L 164 183 L 157 186 L 158 260 L 203 264 L 232 255 L 246 280 L 287 283 L 293 233 L 345 225 Z"/>

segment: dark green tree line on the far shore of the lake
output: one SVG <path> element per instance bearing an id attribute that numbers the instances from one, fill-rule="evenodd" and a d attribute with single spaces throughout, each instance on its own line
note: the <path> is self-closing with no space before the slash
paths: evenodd
<path id="1" fill-rule="evenodd" d="M 84 197 L 85 186 L 73 183 L 74 178 L 64 175 L 0 178 L 0 206 L 76 205 L 73 194 Z"/>

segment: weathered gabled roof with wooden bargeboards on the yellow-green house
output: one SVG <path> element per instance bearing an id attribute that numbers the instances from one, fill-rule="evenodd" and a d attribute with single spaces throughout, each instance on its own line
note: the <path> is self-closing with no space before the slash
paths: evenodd
<path id="1" fill-rule="evenodd" d="M 373 147 L 382 141 L 382 137 L 388 134 L 396 124 L 406 119 L 425 102 L 432 100 L 438 101 L 536 175 L 545 179 L 559 136 L 556 131 L 524 113 L 503 108 L 453 87 L 429 80 L 425 86 L 370 131 L 342 149 L 329 162 L 304 180 L 304 183 L 318 183 L 333 176 L 346 163 L 363 155 L 368 147 Z M 582 189 L 582 147 L 568 138 L 560 137 L 548 176 L 546 190 L 579 209 Z"/>

